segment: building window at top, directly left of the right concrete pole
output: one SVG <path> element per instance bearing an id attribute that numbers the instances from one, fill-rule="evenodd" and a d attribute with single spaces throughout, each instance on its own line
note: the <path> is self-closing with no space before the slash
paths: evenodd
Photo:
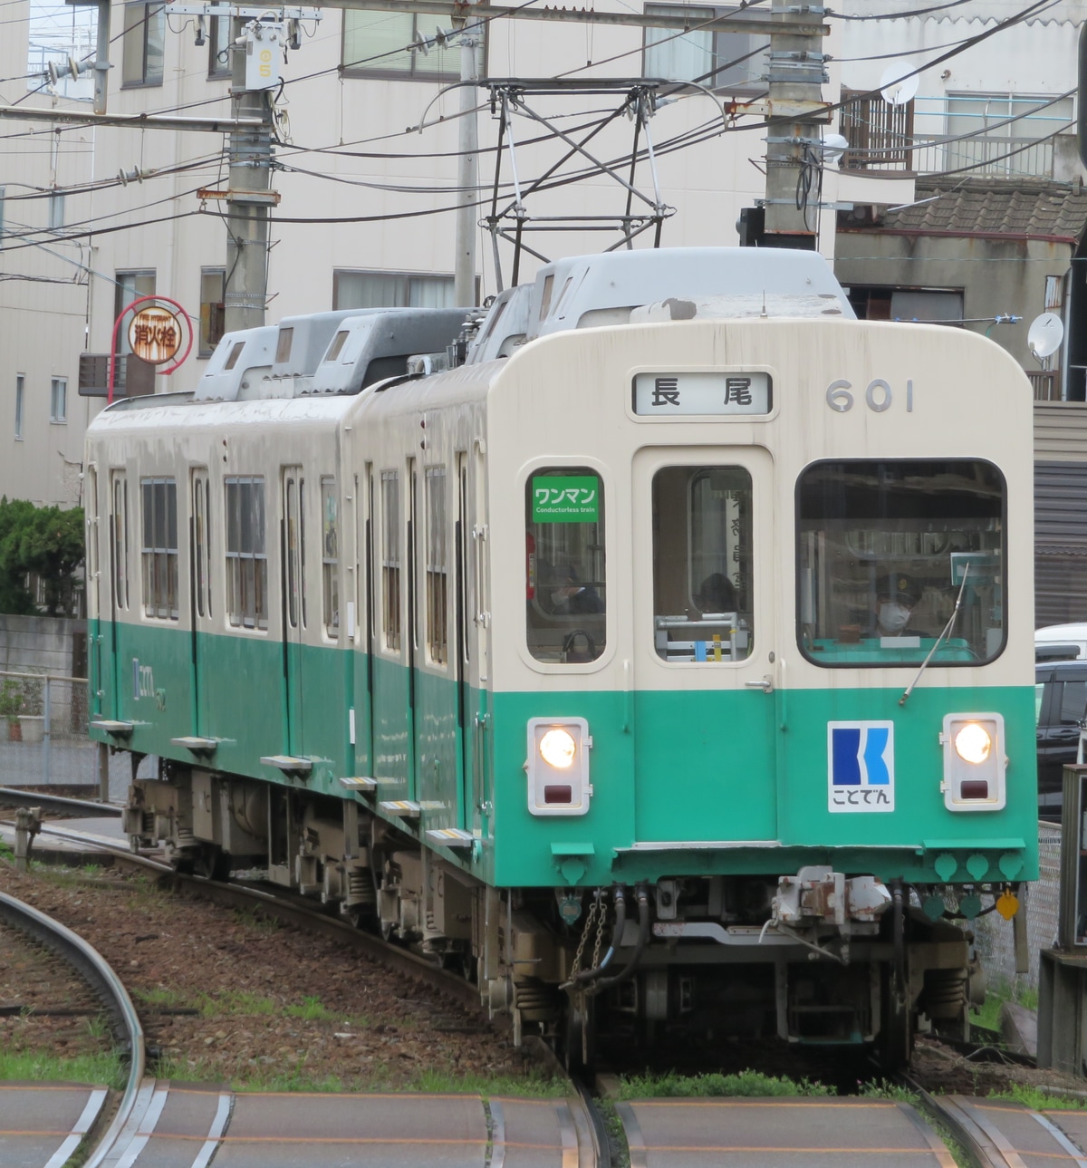
<path id="1" fill-rule="evenodd" d="M 647 4 L 647 16 L 680 16 L 692 26 L 676 35 L 670 28 L 646 29 L 646 77 L 697 81 L 708 89 L 732 93 L 765 88 L 765 54 L 768 36 L 751 33 L 712 32 L 699 23 L 741 12 L 740 8 L 694 8 L 687 5 Z"/>

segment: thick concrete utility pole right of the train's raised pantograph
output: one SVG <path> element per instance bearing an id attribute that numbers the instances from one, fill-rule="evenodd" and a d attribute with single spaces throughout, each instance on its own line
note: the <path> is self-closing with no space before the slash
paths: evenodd
<path id="1" fill-rule="evenodd" d="M 788 27 L 809 22 L 810 11 L 804 6 L 797 8 L 792 0 L 773 0 L 772 15 L 785 27 L 769 39 L 767 104 L 771 111 L 788 103 L 802 105 L 822 99 L 825 79 L 822 46 L 810 35 L 797 35 Z M 761 245 L 815 249 L 818 230 L 816 172 L 822 165 L 822 153 L 817 147 L 814 152 L 808 147 L 806 152 L 804 140 L 818 141 L 818 121 L 814 117 L 796 114 L 775 118 L 773 112 L 767 120 L 766 223 Z M 810 203 L 806 197 L 806 179 L 810 180 Z M 801 196 L 800 207 L 797 194 Z"/>

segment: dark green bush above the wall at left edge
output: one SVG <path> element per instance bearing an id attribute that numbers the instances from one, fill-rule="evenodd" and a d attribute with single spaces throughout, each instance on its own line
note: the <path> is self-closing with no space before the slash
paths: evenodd
<path id="1" fill-rule="evenodd" d="M 83 508 L 35 507 L 26 499 L 0 498 L 0 612 L 39 611 L 28 588 L 44 586 L 50 617 L 72 611 L 77 571 L 83 563 Z"/>

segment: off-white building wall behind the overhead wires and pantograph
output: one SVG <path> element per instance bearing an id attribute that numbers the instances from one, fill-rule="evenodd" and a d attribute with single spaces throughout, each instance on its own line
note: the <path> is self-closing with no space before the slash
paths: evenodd
<path id="1" fill-rule="evenodd" d="M 620 0 L 600 7 L 625 9 Z M 111 113 L 179 111 L 207 118 L 231 112 L 229 82 L 208 78 L 208 49 L 194 46 L 191 21 L 182 16 L 172 16 L 168 22 L 163 84 L 123 88 L 118 36 L 123 20 L 124 6 L 114 4 Z M 420 18 L 420 23 L 428 32 L 438 19 Z M 304 37 L 301 48 L 291 53 L 284 65 L 287 82 L 284 107 L 290 118 L 292 145 L 279 146 L 276 152 L 284 169 L 277 171 L 272 181 L 281 202 L 271 225 L 273 248 L 266 318 L 270 324 L 284 315 L 332 307 L 336 267 L 453 272 L 452 211 L 396 216 L 455 204 L 452 188 L 457 183 L 459 92 L 451 90 L 439 97 L 441 86 L 434 82 L 341 78 L 337 74 L 341 27 L 342 14 L 334 8 L 325 9 L 325 19 L 314 35 Z M 830 51 L 836 51 L 838 33 L 836 26 L 828 46 Z M 635 27 L 495 21 L 489 28 L 485 72 L 495 77 L 637 77 L 643 68 L 641 46 L 642 30 Z M 20 47 L 19 39 L 11 37 L 0 53 L 6 62 L 5 77 L 18 77 L 26 71 L 25 42 Z M 586 69 L 587 61 L 600 64 Z M 50 105 L 53 99 L 46 93 L 26 98 L 25 86 L 20 81 L 0 82 L 0 100 L 12 103 L 23 98 L 25 105 Z M 836 85 L 824 86 L 824 97 L 835 100 Z M 88 109 L 70 102 L 60 104 Z M 616 99 L 530 96 L 529 104 L 544 116 L 559 116 L 559 124 L 570 128 L 587 126 L 605 109 L 613 107 Z M 405 128 L 418 125 L 424 114 L 430 123 L 425 131 L 405 134 Z M 765 131 L 743 130 L 745 124 L 757 125 L 758 119 L 740 119 L 724 132 L 717 102 L 701 93 L 664 106 L 653 119 L 653 139 L 661 150 L 657 160 L 661 199 L 675 208 L 675 215 L 663 228 L 663 245 L 737 242 L 740 209 L 751 206 L 765 189 L 761 169 Z M 494 173 L 494 154 L 489 151 L 497 126 L 486 110 L 480 114 L 479 126 L 483 151 L 479 181 L 489 190 Z M 120 271 L 153 269 L 156 292 L 181 301 L 194 320 L 197 318 L 201 267 L 225 265 L 227 235 L 220 217 L 225 204 L 215 200 L 201 202 L 195 192 L 201 187 L 227 186 L 222 154 L 225 141 L 223 135 L 211 133 L 109 126 L 64 127 L 53 133 L 47 124 L 36 124 L 33 138 L 2 135 L 26 128 L 29 124 L 2 123 L 0 185 L 11 193 L 11 176 L 16 172 L 20 181 L 42 188 L 54 182 L 96 185 L 92 192 L 68 195 L 65 229 L 82 231 L 93 223 L 98 230 L 90 242 L 61 237 L 48 245 L 15 250 L 12 232 L 21 230 L 22 223 L 40 228 L 46 222 L 47 201 L 21 204 L 18 228 L 13 222 L 14 204 L 7 202 L 9 234 L 0 251 L 0 265 L 5 274 L 20 278 L 0 283 L 0 493 L 44 502 L 71 502 L 78 481 L 64 468 L 78 464 L 83 429 L 102 405 L 98 398 L 76 396 L 79 353 L 109 350 L 114 318 L 113 278 Z M 543 127 L 528 119 L 517 121 L 521 142 L 542 131 Z M 685 134 L 697 134 L 704 140 L 683 150 L 668 148 Z M 630 150 L 632 138 L 630 123 L 621 118 L 595 135 L 590 148 L 599 159 L 618 160 L 626 178 L 622 159 Z M 23 154 L 28 150 L 32 153 Z M 522 182 L 531 182 L 557 157 L 553 145 L 518 148 Z M 207 161 L 179 169 L 198 159 Z M 566 169 L 571 165 L 580 168 L 584 162 L 570 164 Z M 137 167 L 142 181 L 127 186 L 113 181 L 119 171 L 131 172 Z M 174 173 L 169 173 L 172 169 Z M 302 173 L 306 171 L 315 173 Z M 503 166 L 507 181 L 509 173 L 508 165 Z M 835 196 L 835 179 L 836 175 L 828 173 L 823 192 L 827 200 Z M 651 195 L 646 165 L 639 167 L 636 186 Z M 420 193 L 420 188 L 431 189 Z M 618 214 L 625 203 L 623 190 L 600 176 L 525 200 L 534 215 Z M 290 222 L 339 217 L 370 221 Z M 821 222 L 821 245 L 828 255 L 832 253 L 832 214 L 824 214 Z M 42 237 L 34 238 L 40 242 Z M 602 250 L 616 238 L 614 232 L 571 231 L 531 236 L 529 243 L 555 258 Z M 649 246 L 651 241 L 653 234 L 647 231 L 636 245 Z M 511 253 L 506 244 L 501 249 L 504 280 L 509 283 Z M 489 236 L 481 230 L 478 272 L 485 297 L 497 290 L 490 256 Z M 85 267 L 81 270 L 76 264 Z M 86 267 L 97 274 L 88 273 Z M 530 278 L 535 267 L 536 260 L 525 256 L 521 279 Z M 64 283 L 36 284 L 21 277 Z M 170 378 L 158 378 L 158 389 L 191 388 L 203 364 L 194 350 Z M 16 371 L 26 375 L 27 387 L 21 442 L 11 431 Z M 50 424 L 48 419 L 49 380 L 61 375 L 69 378 L 65 425 Z"/>

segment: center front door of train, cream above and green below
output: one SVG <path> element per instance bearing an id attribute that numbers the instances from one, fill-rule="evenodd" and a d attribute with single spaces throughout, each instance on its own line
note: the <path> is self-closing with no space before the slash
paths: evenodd
<path id="1" fill-rule="evenodd" d="M 778 837 L 772 470 L 752 447 L 635 458 L 640 842 Z"/>

